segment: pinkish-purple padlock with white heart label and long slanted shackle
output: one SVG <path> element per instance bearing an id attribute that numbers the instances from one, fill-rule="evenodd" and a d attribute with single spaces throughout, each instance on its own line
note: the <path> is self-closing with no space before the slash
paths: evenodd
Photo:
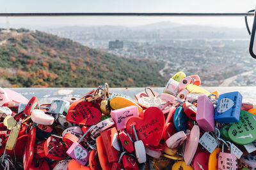
<path id="1" fill-rule="evenodd" d="M 79 139 L 78 142 L 74 142 L 70 148 L 67 150 L 67 154 L 72 157 L 72 159 L 79 162 L 82 166 L 85 166 L 85 164 L 88 162 L 89 159 L 89 152 L 79 143 L 83 140 L 83 138 L 86 136 L 86 134 L 92 129 L 93 126 L 91 126 L 82 136 L 82 138 Z"/>

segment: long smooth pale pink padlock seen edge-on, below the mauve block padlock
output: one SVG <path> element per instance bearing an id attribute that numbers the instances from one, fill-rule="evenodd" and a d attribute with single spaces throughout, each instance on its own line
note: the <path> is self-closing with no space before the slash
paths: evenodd
<path id="1" fill-rule="evenodd" d="M 200 137 L 200 129 L 198 125 L 194 125 L 191 129 L 189 137 L 186 139 L 186 145 L 184 149 L 184 160 L 186 165 L 189 165 L 193 160 L 198 146 L 198 141 Z"/>

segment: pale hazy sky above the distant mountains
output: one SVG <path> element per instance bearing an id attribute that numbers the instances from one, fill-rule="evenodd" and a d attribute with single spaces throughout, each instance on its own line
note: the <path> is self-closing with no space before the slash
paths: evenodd
<path id="1" fill-rule="evenodd" d="M 0 12 L 247 12 L 255 0 L 0 0 Z M 253 17 L 249 17 L 252 25 Z M 62 27 L 68 25 L 179 24 L 245 27 L 244 17 L 0 17 L 0 27 Z"/>

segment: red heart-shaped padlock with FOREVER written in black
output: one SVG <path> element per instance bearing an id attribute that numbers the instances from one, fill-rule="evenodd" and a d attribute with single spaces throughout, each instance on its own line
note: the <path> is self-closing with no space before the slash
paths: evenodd
<path id="1" fill-rule="evenodd" d="M 143 118 L 131 117 L 127 121 L 126 130 L 131 134 L 132 125 L 135 125 L 138 139 L 145 145 L 158 145 L 164 129 L 164 114 L 157 107 L 150 107 L 145 110 Z M 132 131 L 132 134 L 134 132 Z"/>

